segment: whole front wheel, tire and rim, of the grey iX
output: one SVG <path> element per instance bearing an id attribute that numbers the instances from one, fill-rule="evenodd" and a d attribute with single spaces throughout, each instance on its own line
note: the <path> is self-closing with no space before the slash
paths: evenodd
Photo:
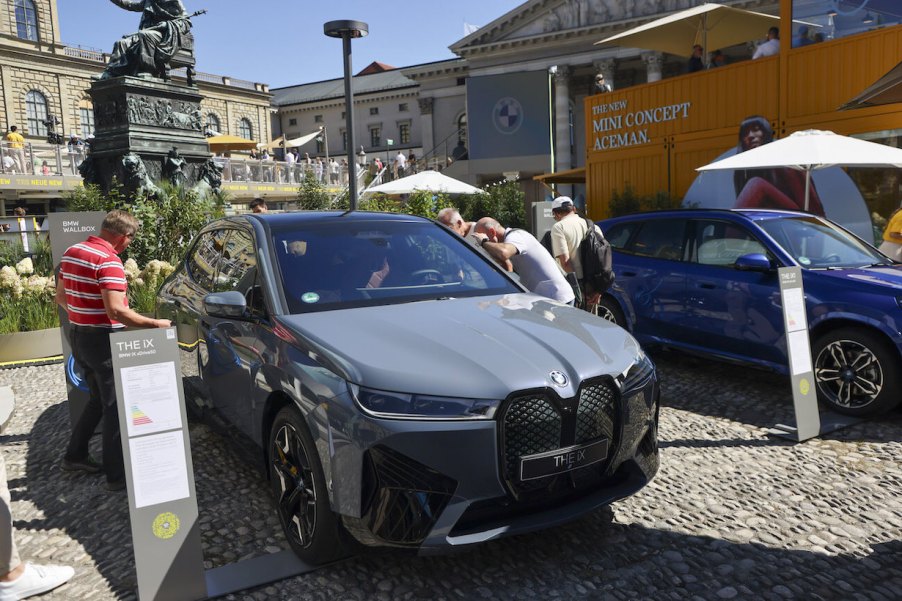
<path id="1" fill-rule="evenodd" d="M 269 436 L 269 478 L 282 530 L 302 561 L 321 565 L 344 555 L 338 520 L 313 439 L 293 406 L 279 411 Z"/>

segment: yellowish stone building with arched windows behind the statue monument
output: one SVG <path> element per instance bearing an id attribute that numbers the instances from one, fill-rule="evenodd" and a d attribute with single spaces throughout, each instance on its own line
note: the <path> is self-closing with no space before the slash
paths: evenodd
<path id="1" fill-rule="evenodd" d="M 28 205 L 31 213 L 46 213 L 50 201 L 80 185 L 65 142 L 73 135 L 88 138 L 96 120 L 103 118 L 95 115 L 87 90 L 109 54 L 62 39 L 57 0 L 0 0 L 0 130 L 5 134 L 16 126 L 29 150 L 24 153 L 24 168 L 0 173 L 3 214 L 17 205 Z M 112 42 L 113 38 L 111 47 Z M 174 79 L 184 81 L 178 72 Z M 205 73 L 197 74 L 196 83 L 203 96 L 206 129 L 271 139 L 271 95 L 266 84 Z M 48 144 L 51 132 L 63 137 L 61 148 Z M 49 174 L 41 173 L 45 162 Z"/>

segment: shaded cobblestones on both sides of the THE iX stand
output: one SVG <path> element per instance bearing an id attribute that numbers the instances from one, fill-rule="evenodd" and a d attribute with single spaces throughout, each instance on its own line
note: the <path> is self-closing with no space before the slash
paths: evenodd
<path id="1" fill-rule="evenodd" d="M 127 494 L 107 491 L 102 475 L 60 470 L 69 430 L 69 404 L 62 402 L 41 413 L 29 435 L 0 437 L 4 445 L 27 439 L 25 476 L 11 480 L 10 490 L 14 500 L 33 503 L 43 516 L 16 520 L 14 526 L 66 532 L 84 547 L 118 598 L 134 598 Z M 264 476 L 208 426 L 191 423 L 189 432 L 205 568 L 287 549 Z M 102 456 L 100 446 L 95 435 L 94 457 Z"/>

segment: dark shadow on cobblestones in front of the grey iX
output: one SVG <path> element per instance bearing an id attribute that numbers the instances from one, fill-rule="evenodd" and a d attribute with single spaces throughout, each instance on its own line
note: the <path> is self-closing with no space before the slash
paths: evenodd
<path id="1" fill-rule="evenodd" d="M 293 593 L 311 591 L 317 582 L 344 582 L 362 590 L 365 598 L 433 601 L 837 599 L 854 594 L 866 598 L 869 591 L 890 599 L 892 591 L 900 590 L 902 578 L 898 573 L 881 575 L 881 568 L 897 564 L 900 551 L 902 543 L 896 540 L 874 541 L 872 551 L 861 556 L 774 549 L 619 523 L 607 509 L 563 527 L 449 556 L 397 552 L 358 556 L 325 569 L 333 574 L 286 583 L 279 598 L 298 598 Z M 735 593 L 724 591 L 728 587 Z"/>

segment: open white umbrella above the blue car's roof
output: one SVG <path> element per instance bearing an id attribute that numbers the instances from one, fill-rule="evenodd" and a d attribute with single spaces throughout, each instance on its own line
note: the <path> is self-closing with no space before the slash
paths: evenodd
<path id="1" fill-rule="evenodd" d="M 902 149 L 841 136 L 832 131 L 807 129 L 699 167 L 696 171 L 774 167 L 804 171 L 807 211 L 811 172 L 815 169 L 837 166 L 902 168 Z"/>

